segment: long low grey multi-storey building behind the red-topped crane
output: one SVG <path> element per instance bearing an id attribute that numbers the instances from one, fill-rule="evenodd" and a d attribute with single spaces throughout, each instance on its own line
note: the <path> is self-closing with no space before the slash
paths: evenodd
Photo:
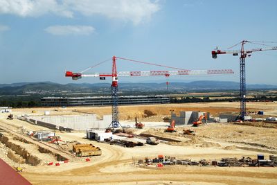
<path id="1" fill-rule="evenodd" d="M 104 106 L 111 105 L 111 96 L 94 97 L 44 97 L 41 99 L 43 107 L 62 107 L 62 106 Z M 119 105 L 147 105 L 170 103 L 168 96 L 118 96 Z"/>

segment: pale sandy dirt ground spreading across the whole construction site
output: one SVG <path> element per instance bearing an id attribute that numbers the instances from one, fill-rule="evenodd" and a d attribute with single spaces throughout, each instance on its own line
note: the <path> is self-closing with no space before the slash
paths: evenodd
<path id="1" fill-rule="evenodd" d="M 161 121 L 162 116 L 169 116 L 170 110 L 175 112 L 186 110 L 200 110 L 218 114 L 219 112 L 238 112 L 238 103 L 189 103 L 175 105 L 140 105 L 120 107 L 120 120 L 134 121 L 134 116 L 141 116 L 143 120 L 144 110 L 148 109 L 157 116 L 148 118 L 153 121 L 149 127 L 136 130 L 136 134 L 149 133 L 180 142 L 160 143 L 157 146 L 144 145 L 135 148 L 123 148 L 122 146 L 98 143 L 85 139 L 85 132 L 60 132 L 53 130 L 61 137 L 65 145 L 73 141 L 80 143 L 92 143 L 102 150 L 101 156 L 91 157 L 87 162 L 85 158 L 74 157 L 68 151 L 63 152 L 60 146 L 42 141 L 35 141 L 24 134 L 24 130 L 48 130 L 45 127 L 31 125 L 25 121 L 6 120 L 8 114 L 0 114 L 0 133 L 8 137 L 10 145 L 19 145 L 30 155 L 34 155 L 40 161 L 32 166 L 24 163 L 21 155 L 9 155 L 11 150 L 6 144 L 0 142 L 0 157 L 10 166 L 21 166 L 21 173 L 32 184 L 276 184 L 277 168 L 272 167 L 214 167 L 214 166 L 166 166 L 164 168 L 150 168 L 139 166 L 137 161 L 145 157 L 157 157 L 166 155 L 179 159 L 206 159 L 208 161 L 220 160 L 222 157 L 242 156 L 256 158 L 258 154 L 277 155 L 277 130 L 272 127 L 256 127 L 238 125 L 233 123 L 211 123 L 202 127 L 177 127 L 175 133 L 165 133 L 166 123 Z M 248 103 L 252 110 L 264 110 L 277 112 L 276 103 Z M 95 114 L 110 114 L 110 107 L 66 107 L 13 109 L 12 114 L 41 115 L 44 111 L 51 114 L 80 114 L 73 112 L 90 112 Z M 32 111 L 35 110 L 35 113 Z M 274 114 L 271 114 L 274 116 Z M 155 118 L 156 117 L 156 118 Z M 140 120 L 140 121 L 141 121 Z M 154 127 L 154 125 L 161 125 Z M 152 127 L 153 126 L 153 127 Z M 195 130 L 196 136 L 182 134 L 183 129 Z M 22 139 L 17 139 L 17 137 Z M 26 142 L 27 141 L 27 142 Z M 69 163 L 61 166 L 48 166 L 49 161 L 59 161 L 49 152 L 39 152 L 39 146 L 60 153 L 69 158 Z M 13 146 L 15 149 L 15 146 Z M 13 151 L 13 150 L 12 150 Z M 10 152 L 12 152 L 10 151 Z M 12 157 L 11 157 L 12 156 Z M 18 159 L 18 161 L 16 161 Z M 33 158 L 32 158 L 33 159 Z"/>

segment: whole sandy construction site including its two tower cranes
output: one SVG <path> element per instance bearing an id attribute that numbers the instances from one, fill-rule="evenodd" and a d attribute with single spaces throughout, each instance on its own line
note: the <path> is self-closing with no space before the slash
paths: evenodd
<path id="1" fill-rule="evenodd" d="M 232 51 L 241 53 L 241 66 L 245 53 L 256 51 L 243 51 L 245 43 Z M 213 58 L 224 52 L 212 51 Z M 244 68 L 240 102 L 118 106 L 118 77 L 233 74 L 231 69 L 117 72 L 118 59 L 129 60 L 114 56 L 112 73 L 65 73 L 73 80 L 111 77 L 109 106 L 2 107 L 1 159 L 32 184 L 276 182 L 277 104 L 247 103 Z"/>

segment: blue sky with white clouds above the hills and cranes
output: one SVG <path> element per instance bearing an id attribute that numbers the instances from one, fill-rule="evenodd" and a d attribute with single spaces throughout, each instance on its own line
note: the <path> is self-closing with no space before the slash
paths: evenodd
<path id="1" fill-rule="evenodd" d="M 172 81 L 239 82 L 239 58 L 219 55 L 214 60 L 211 51 L 216 46 L 227 49 L 242 39 L 277 42 L 276 20 L 274 0 L 0 0 L 0 83 L 73 82 L 64 77 L 65 69 L 82 71 L 113 55 L 181 69 L 235 71 L 234 75 L 172 76 Z M 260 47 L 267 46 L 245 46 Z M 166 70 L 123 60 L 117 64 L 118 71 Z M 246 69 L 247 83 L 277 85 L 277 51 L 253 53 Z M 111 61 L 88 72 L 111 72 Z M 153 80 L 165 79 L 120 79 Z"/>

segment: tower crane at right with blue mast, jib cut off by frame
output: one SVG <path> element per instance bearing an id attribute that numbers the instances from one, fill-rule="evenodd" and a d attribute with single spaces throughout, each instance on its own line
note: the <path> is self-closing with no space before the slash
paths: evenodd
<path id="1" fill-rule="evenodd" d="M 216 49 L 215 51 L 212 51 L 212 57 L 217 58 L 217 55 L 219 54 L 233 54 L 233 56 L 238 56 L 238 53 L 240 53 L 240 114 L 238 115 L 238 118 L 242 121 L 244 121 L 244 116 L 247 116 L 247 106 L 246 106 L 246 80 L 245 80 L 245 58 L 250 57 L 251 53 L 256 51 L 268 51 L 268 50 L 277 50 L 277 46 L 272 46 L 271 48 L 265 48 L 265 49 L 250 49 L 250 50 L 244 50 L 244 44 L 251 43 L 251 44 L 260 44 L 267 46 L 267 42 L 250 42 L 247 40 L 242 40 L 242 42 L 239 42 L 238 44 L 235 44 L 234 46 L 238 46 L 241 44 L 240 50 L 235 51 L 221 51 L 219 49 Z M 270 42 L 274 43 L 274 42 Z M 233 48 L 234 46 L 231 46 L 229 49 Z"/>

